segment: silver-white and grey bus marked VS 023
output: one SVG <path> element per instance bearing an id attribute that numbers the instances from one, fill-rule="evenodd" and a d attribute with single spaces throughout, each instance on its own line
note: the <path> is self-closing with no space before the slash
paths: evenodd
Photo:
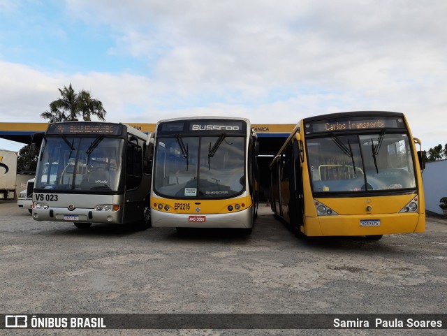
<path id="1" fill-rule="evenodd" d="M 150 134 L 126 124 L 59 122 L 36 138 L 36 221 L 150 226 Z"/>

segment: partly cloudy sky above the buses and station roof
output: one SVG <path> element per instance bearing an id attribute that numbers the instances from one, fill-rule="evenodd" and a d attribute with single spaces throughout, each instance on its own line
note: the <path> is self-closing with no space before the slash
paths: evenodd
<path id="1" fill-rule="evenodd" d="M 0 0 L 0 122 L 46 122 L 71 83 L 110 122 L 404 112 L 429 149 L 447 143 L 446 17 L 439 0 Z"/>

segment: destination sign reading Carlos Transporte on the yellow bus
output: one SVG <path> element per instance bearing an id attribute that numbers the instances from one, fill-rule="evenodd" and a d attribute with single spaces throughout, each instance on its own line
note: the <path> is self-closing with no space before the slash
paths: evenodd
<path id="1" fill-rule="evenodd" d="M 359 131 L 362 129 L 403 129 L 402 118 L 352 118 L 349 120 L 321 120 L 305 125 L 306 133 Z"/>

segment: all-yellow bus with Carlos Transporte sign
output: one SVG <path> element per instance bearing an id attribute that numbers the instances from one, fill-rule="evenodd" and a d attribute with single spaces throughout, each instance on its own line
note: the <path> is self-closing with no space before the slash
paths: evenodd
<path id="1" fill-rule="evenodd" d="M 298 236 L 425 231 L 423 161 L 398 112 L 302 119 L 270 164 L 275 217 Z"/>

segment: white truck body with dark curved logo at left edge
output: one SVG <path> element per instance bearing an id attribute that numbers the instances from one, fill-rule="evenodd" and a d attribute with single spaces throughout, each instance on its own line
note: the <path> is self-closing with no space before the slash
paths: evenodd
<path id="1" fill-rule="evenodd" d="M 0 149 L 0 200 L 15 200 L 17 152 Z"/>

